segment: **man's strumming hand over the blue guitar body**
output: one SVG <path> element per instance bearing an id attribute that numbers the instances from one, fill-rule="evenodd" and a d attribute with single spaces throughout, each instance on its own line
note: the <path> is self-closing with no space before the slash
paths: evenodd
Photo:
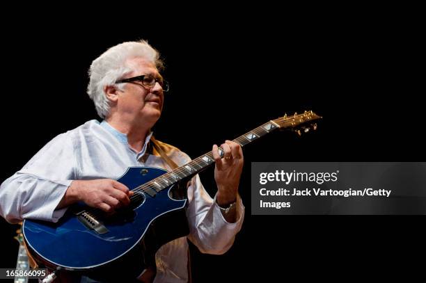
<path id="1" fill-rule="evenodd" d="M 56 208 L 61 209 L 82 201 L 89 207 L 111 213 L 129 205 L 129 197 L 132 195 L 133 192 L 127 186 L 113 179 L 74 180 Z"/>

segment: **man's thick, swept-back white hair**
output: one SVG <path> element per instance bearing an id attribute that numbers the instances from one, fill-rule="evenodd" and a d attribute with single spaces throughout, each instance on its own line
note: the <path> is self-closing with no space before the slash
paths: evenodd
<path id="1" fill-rule="evenodd" d="M 164 67 L 159 58 L 159 52 L 145 40 L 123 42 L 111 47 L 104 54 L 93 60 L 92 65 L 90 65 L 88 71 L 90 81 L 87 86 L 87 93 L 90 99 L 93 100 L 100 118 L 104 119 L 109 114 L 109 100 L 104 93 L 104 87 L 115 85 L 118 79 L 134 71 L 126 65 L 126 60 L 134 57 L 145 58 L 159 70 Z M 116 87 L 123 90 L 123 86 L 119 84 Z"/>

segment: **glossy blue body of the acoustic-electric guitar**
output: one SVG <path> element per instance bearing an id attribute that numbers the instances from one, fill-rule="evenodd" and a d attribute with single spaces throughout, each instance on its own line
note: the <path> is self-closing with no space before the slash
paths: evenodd
<path id="1" fill-rule="evenodd" d="M 132 167 L 117 181 L 134 190 L 165 172 L 160 168 Z M 26 244 L 40 264 L 48 268 L 61 267 L 96 280 L 132 280 L 145 268 L 155 268 L 155 252 L 161 245 L 189 234 L 187 199 L 177 200 L 172 194 L 177 186 L 155 196 L 136 190 L 132 197 L 139 202 L 132 207 L 113 216 L 95 215 L 100 223 L 96 229 L 81 214 L 90 211 L 82 204 L 68 209 L 58 223 L 24 220 Z"/>

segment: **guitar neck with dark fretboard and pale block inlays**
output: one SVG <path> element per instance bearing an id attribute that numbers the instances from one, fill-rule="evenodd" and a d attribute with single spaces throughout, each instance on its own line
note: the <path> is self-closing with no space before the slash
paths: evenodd
<path id="1" fill-rule="evenodd" d="M 233 141 L 244 147 L 245 145 L 253 142 L 253 140 L 257 140 L 258 138 L 261 138 L 262 136 L 265 136 L 266 134 L 269 134 L 278 128 L 279 126 L 276 124 L 276 122 L 269 121 L 253 129 L 252 131 L 248 131 L 246 134 L 235 138 Z M 219 155 L 223 157 L 222 147 L 219 147 Z M 143 184 L 143 189 L 149 195 L 155 195 L 156 192 L 161 191 L 164 188 L 181 181 L 182 179 L 187 179 L 198 174 L 213 163 L 214 158 L 212 152 L 207 152 L 206 154 L 198 156 L 189 163 L 182 165 L 171 172 L 167 172 L 166 174 L 161 175 L 155 179 L 152 179 L 146 184 Z"/>

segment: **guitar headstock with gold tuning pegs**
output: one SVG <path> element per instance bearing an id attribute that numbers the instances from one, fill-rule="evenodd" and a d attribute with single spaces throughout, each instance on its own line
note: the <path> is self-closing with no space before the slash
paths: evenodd
<path id="1" fill-rule="evenodd" d="M 316 130 L 316 120 L 322 117 L 315 114 L 313 111 L 305 111 L 302 114 L 294 113 L 294 115 L 285 114 L 283 117 L 272 120 L 272 122 L 278 124 L 280 129 L 292 129 L 299 136 L 303 133 L 307 133 L 310 129 Z"/>

